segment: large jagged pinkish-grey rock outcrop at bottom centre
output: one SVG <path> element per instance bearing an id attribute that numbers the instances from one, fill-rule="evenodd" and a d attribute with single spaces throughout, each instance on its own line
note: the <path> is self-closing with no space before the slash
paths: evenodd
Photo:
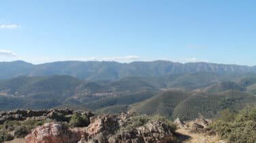
<path id="1" fill-rule="evenodd" d="M 26 141 L 28 143 L 150 143 L 174 141 L 174 129 L 168 123 L 141 117 L 140 119 L 146 119 L 144 124 L 127 127 L 137 121 L 133 117 L 133 113 L 99 115 L 91 117 L 88 127 L 73 129 L 68 129 L 60 123 L 48 123 L 33 129 L 31 134 L 26 137 Z"/>

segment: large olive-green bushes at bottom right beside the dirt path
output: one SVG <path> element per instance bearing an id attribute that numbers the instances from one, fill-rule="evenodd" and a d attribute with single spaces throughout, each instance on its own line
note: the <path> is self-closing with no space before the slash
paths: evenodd
<path id="1" fill-rule="evenodd" d="M 228 142 L 256 142 L 256 106 L 247 106 L 237 114 L 228 110 L 223 113 L 227 117 L 225 114 L 221 115 L 210 125 L 210 129 Z"/>

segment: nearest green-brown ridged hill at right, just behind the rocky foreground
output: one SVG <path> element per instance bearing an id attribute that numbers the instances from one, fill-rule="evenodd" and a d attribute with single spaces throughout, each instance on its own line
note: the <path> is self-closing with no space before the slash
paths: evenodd
<path id="1" fill-rule="evenodd" d="M 163 115 L 170 119 L 179 117 L 191 120 L 198 117 L 213 118 L 225 108 L 240 110 L 246 104 L 256 102 L 256 97 L 241 91 L 225 91 L 220 94 L 165 91 L 153 98 L 131 106 L 138 114 Z"/>

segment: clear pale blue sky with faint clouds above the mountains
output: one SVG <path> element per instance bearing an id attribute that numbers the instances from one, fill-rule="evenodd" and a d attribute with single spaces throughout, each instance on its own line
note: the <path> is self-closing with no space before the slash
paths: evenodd
<path id="1" fill-rule="evenodd" d="M 256 65 L 256 1 L 1 0 L 0 61 Z"/>

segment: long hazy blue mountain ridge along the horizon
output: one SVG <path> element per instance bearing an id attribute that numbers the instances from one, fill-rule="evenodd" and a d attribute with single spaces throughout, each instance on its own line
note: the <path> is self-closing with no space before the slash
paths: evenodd
<path id="1" fill-rule="evenodd" d="M 178 63 L 157 60 L 153 62 L 80 62 L 64 61 L 45 64 L 30 64 L 23 61 L 0 62 L 0 79 L 18 76 L 71 75 L 91 81 L 118 80 L 123 77 L 157 77 L 175 73 L 234 72 L 255 73 L 256 66 L 235 64 L 212 64 L 206 62 Z"/>

